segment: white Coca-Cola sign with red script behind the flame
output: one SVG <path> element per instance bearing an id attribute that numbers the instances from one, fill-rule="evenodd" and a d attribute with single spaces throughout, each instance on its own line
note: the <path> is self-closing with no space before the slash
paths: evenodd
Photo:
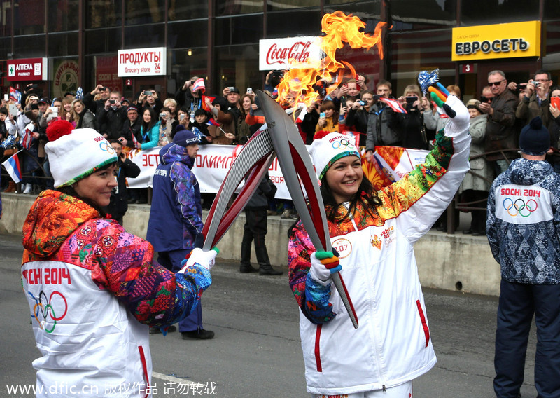
<path id="1" fill-rule="evenodd" d="M 320 37 L 314 36 L 260 40 L 259 69 L 318 68 L 321 62 L 320 40 Z M 289 60 L 293 62 L 289 64 Z"/>

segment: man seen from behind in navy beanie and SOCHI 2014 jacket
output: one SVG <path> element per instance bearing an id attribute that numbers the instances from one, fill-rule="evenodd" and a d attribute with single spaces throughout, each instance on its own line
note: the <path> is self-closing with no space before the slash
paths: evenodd
<path id="1" fill-rule="evenodd" d="M 560 397 L 560 174 L 545 161 L 550 136 L 540 117 L 521 130 L 519 148 L 488 198 L 486 234 L 502 274 L 494 391 L 520 396 L 534 314 L 538 397 Z"/>

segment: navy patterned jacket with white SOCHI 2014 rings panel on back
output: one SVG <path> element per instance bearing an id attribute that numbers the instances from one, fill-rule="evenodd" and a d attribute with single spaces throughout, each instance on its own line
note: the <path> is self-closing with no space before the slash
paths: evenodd
<path id="1" fill-rule="evenodd" d="M 560 283 L 560 174 L 515 159 L 492 183 L 486 235 L 503 280 Z"/>

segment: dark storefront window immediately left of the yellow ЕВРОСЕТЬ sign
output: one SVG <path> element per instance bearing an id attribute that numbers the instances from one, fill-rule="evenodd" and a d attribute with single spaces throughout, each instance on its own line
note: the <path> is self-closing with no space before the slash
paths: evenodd
<path id="1" fill-rule="evenodd" d="M 421 70 L 440 69 L 443 85 L 456 84 L 455 64 L 451 62 L 451 29 L 391 34 L 390 79 L 393 95 L 402 95 L 409 84 L 418 84 Z"/>

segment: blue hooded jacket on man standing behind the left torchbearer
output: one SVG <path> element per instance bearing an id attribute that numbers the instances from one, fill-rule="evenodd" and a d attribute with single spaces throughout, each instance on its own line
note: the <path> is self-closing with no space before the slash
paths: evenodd
<path id="1" fill-rule="evenodd" d="M 156 252 L 194 249 L 202 231 L 200 187 L 190 170 L 195 163 L 187 149 L 167 144 L 160 150 L 153 176 L 153 196 L 146 240 Z"/>

